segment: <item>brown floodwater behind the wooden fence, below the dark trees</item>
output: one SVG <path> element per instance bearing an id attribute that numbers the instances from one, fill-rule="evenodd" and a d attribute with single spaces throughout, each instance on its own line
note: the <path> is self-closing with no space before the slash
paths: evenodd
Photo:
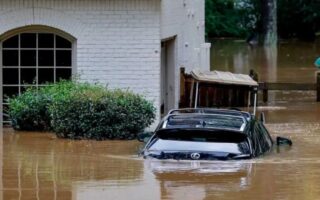
<path id="1" fill-rule="evenodd" d="M 244 41 L 212 41 L 211 69 L 248 74 L 259 73 L 260 81 L 314 82 L 315 59 L 320 39 L 313 43 L 280 42 L 277 48 L 252 47 Z"/>

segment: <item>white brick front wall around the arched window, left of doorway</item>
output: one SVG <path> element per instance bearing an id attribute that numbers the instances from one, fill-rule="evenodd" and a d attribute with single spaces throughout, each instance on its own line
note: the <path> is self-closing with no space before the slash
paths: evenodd
<path id="1" fill-rule="evenodd" d="M 28 25 L 60 29 L 76 38 L 81 80 L 129 88 L 159 107 L 160 2 L 2 0 L 0 35 Z"/>

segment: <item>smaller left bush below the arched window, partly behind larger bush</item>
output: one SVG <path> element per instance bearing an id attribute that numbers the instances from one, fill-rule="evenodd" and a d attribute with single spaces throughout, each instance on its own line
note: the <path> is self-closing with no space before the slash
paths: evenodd
<path id="1" fill-rule="evenodd" d="M 22 95 L 9 99 L 9 116 L 12 127 L 16 130 L 43 131 L 50 130 L 49 105 L 53 99 L 65 98 L 76 88 L 86 88 L 86 84 L 61 81 L 37 89 L 30 87 Z"/>

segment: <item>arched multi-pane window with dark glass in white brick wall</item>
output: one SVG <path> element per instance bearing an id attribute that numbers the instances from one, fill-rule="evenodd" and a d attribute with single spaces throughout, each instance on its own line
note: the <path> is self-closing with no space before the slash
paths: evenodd
<path id="1" fill-rule="evenodd" d="M 53 33 L 27 32 L 1 44 L 4 113 L 6 99 L 20 95 L 27 87 L 43 87 L 60 79 L 71 79 L 71 41 Z M 5 121 L 8 121 L 6 115 Z"/>

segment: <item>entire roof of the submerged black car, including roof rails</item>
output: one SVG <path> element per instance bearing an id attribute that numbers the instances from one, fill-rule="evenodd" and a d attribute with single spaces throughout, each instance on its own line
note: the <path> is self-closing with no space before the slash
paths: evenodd
<path id="1" fill-rule="evenodd" d="M 250 120 L 250 113 L 239 110 L 185 108 L 171 110 L 159 129 L 211 128 L 243 132 Z"/>

